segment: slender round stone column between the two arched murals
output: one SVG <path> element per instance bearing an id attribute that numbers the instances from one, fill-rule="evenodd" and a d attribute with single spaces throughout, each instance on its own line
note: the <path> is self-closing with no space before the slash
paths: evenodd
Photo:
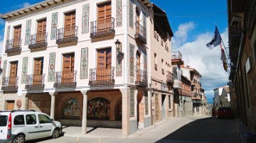
<path id="1" fill-rule="evenodd" d="M 82 132 L 81 135 L 87 134 L 87 100 L 89 91 L 81 91 L 83 95 L 82 102 Z"/>

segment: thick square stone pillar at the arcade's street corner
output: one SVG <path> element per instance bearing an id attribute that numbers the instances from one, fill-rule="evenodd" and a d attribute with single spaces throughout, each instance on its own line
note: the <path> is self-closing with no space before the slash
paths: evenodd
<path id="1" fill-rule="evenodd" d="M 119 89 L 122 93 L 122 136 L 129 135 L 130 96 L 129 88 Z"/>

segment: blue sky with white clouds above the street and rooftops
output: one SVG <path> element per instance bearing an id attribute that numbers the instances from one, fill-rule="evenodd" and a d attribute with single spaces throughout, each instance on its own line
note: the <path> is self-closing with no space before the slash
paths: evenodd
<path id="1" fill-rule="evenodd" d="M 36 4 L 43 0 L 1 1 L 0 13 Z M 228 47 L 228 13 L 225 0 L 151 0 L 166 12 L 174 37 L 171 50 L 179 50 L 185 66 L 196 69 L 201 75 L 208 102 L 213 102 L 214 88 L 228 83 L 228 72 L 220 60 L 220 47 L 208 50 L 215 25 L 218 26 L 225 47 Z M 0 20 L 0 48 L 4 37 L 4 21 Z M 227 49 L 228 50 L 228 49 Z"/>

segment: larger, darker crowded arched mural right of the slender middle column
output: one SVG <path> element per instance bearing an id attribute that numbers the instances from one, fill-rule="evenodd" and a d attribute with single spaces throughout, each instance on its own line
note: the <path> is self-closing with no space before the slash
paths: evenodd
<path id="1" fill-rule="evenodd" d="M 110 120 L 110 101 L 105 98 L 94 98 L 88 102 L 87 119 Z"/>

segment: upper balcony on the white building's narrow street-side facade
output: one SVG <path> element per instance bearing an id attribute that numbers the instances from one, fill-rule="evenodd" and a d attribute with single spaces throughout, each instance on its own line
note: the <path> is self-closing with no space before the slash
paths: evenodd
<path id="1" fill-rule="evenodd" d="M 146 28 L 140 25 L 138 22 L 135 23 L 136 33 L 134 35 L 135 40 L 146 44 Z"/>

